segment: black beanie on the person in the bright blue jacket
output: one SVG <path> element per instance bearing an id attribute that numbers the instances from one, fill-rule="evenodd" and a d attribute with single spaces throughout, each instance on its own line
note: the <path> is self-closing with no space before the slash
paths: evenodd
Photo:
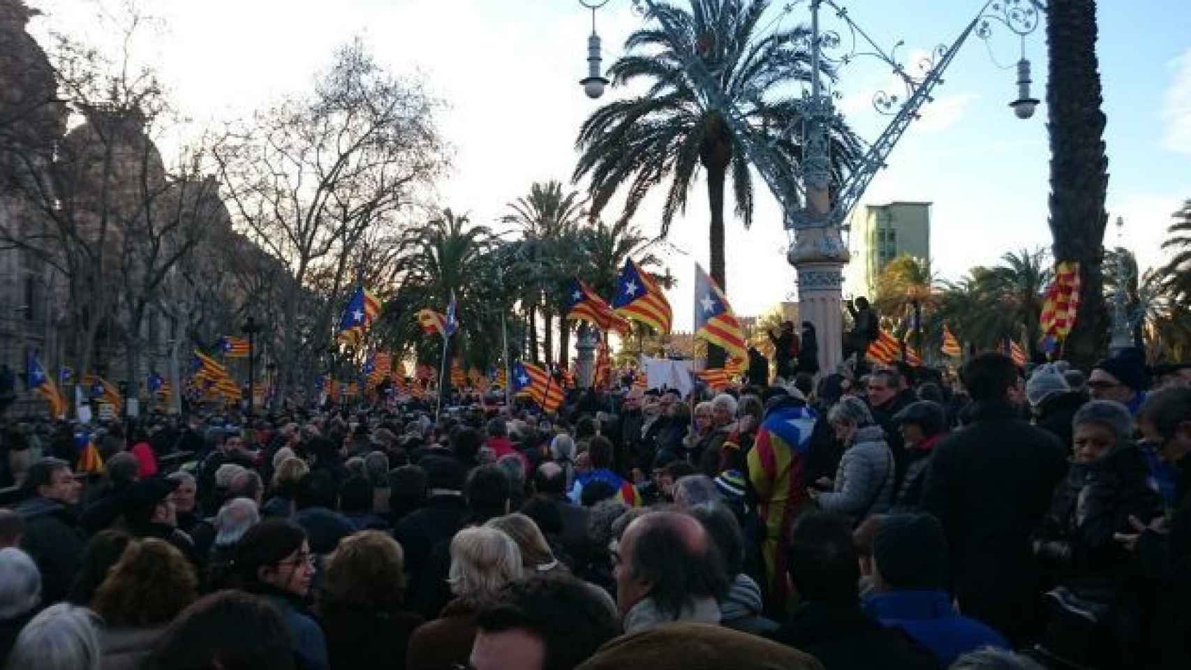
<path id="1" fill-rule="evenodd" d="M 930 514 L 890 514 L 873 538 L 873 559 L 891 589 L 947 588 L 947 536 Z"/>

